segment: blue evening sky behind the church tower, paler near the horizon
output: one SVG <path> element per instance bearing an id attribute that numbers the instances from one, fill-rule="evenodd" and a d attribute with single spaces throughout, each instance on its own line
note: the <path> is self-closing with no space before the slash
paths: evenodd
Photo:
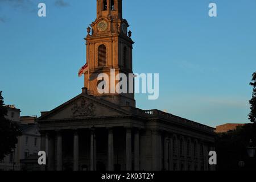
<path id="1" fill-rule="evenodd" d="M 20 3 L 21 2 L 21 3 Z M 38 3 L 47 17 L 37 16 Z M 81 93 L 86 28 L 96 0 L 0 0 L 0 90 L 22 115 L 40 115 Z M 208 16 L 210 2 L 216 18 Z M 160 97 L 137 107 L 210 126 L 248 122 L 256 71 L 255 0 L 123 0 L 135 73 L 159 73 Z"/>

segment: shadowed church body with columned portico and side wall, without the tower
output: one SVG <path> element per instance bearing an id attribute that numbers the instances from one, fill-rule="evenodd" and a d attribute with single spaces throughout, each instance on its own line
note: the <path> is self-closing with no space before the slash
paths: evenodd
<path id="1" fill-rule="evenodd" d="M 47 170 L 208 170 L 211 127 L 84 92 L 39 118 Z M 213 168 L 210 168 L 213 169 Z"/>

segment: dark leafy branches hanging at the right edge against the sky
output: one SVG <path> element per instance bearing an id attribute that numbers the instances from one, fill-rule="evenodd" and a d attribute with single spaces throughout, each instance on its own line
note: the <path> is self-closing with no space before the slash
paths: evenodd
<path id="1" fill-rule="evenodd" d="M 256 123 L 256 72 L 253 73 L 253 79 L 251 80 L 250 85 L 253 86 L 253 97 L 249 101 L 251 107 L 251 112 L 249 114 L 249 119 L 251 122 Z"/>

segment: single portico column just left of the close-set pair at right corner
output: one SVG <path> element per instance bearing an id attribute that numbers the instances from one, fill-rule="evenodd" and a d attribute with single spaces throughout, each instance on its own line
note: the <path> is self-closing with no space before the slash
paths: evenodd
<path id="1" fill-rule="evenodd" d="M 108 129 L 108 171 L 114 171 L 114 140 L 112 127 Z"/>

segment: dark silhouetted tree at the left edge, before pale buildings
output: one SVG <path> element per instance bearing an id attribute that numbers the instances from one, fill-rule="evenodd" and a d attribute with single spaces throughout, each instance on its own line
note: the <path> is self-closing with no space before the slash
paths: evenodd
<path id="1" fill-rule="evenodd" d="M 22 133 L 15 122 L 6 118 L 7 108 L 4 105 L 2 91 L 0 92 L 0 160 L 11 153 Z"/>

